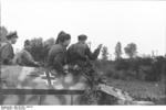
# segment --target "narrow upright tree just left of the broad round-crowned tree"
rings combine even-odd
[[[122,58],[122,46],[121,46],[121,42],[117,42],[116,46],[115,46],[115,58],[116,59],[121,59]]]

